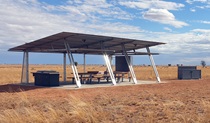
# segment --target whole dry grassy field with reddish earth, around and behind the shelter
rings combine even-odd
[[[30,66],[30,72],[41,69],[62,73],[61,65]],[[210,123],[210,68],[199,69],[201,80],[176,80],[176,67],[159,66],[168,83],[63,90],[13,85],[20,82],[21,66],[1,65],[0,123]],[[134,70],[138,79],[155,80],[151,67]]]

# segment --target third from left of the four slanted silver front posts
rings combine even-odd
[[[128,68],[129,68],[130,73],[131,73],[131,77],[132,77],[133,83],[137,84],[137,79],[136,79],[136,75],[135,75],[134,70],[133,70],[133,66],[131,64],[130,59],[128,58],[127,51],[125,50],[125,44],[122,44],[121,46],[122,46],[123,54],[125,55],[126,62],[128,64]]]

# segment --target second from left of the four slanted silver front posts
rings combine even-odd
[[[115,80],[114,73],[113,73],[113,70],[112,70],[111,62],[110,62],[109,56],[107,55],[107,53],[105,51],[103,42],[101,42],[101,49],[104,50],[103,51],[104,60],[105,60],[107,69],[109,71],[109,76],[110,76],[110,78],[112,80],[112,84],[116,85],[116,80]]]

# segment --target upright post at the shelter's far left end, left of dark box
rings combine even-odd
[[[29,65],[28,65],[28,52],[23,53],[22,75],[21,83],[29,83]]]

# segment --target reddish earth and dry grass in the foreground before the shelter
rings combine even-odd
[[[173,83],[170,86],[173,85],[176,86]],[[62,94],[54,95],[52,98],[49,96],[52,90],[40,89],[33,92],[43,94],[36,99],[32,93],[26,91],[0,93],[6,101],[0,102],[0,123],[210,122],[209,95],[200,93],[194,86],[187,90],[186,87],[180,86],[179,93],[177,93],[178,90],[168,89],[168,85],[160,86],[154,85],[151,88],[145,85],[129,89],[119,87],[78,91],[55,89],[54,93]],[[210,87],[209,84],[208,87]],[[153,91],[153,88],[157,90]],[[132,93],[133,91],[135,93]],[[60,97],[65,95],[63,92],[67,95]]]

